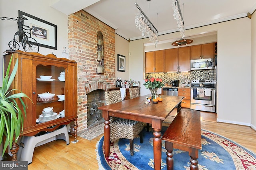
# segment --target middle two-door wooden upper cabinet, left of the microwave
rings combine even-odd
[[[164,50],[164,72],[190,71],[190,47]]]

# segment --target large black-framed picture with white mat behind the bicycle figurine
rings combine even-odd
[[[57,49],[57,25],[36,18],[30,14],[19,10],[19,16],[24,16],[23,25],[32,28],[31,37],[34,38],[38,45],[49,49]]]

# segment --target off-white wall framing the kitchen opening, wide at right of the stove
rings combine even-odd
[[[185,31],[186,36],[217,31],[218,45],[218,121],[250,125],[251,123],[251,26],[249,18],[227,21]],[[159,40],[177,39],[178,33],[159,36]],[[148,39],[140,39],[129,43],[130,70],[141,75],[144,66],[144,43]],[[193,44],[191,44],[193,45]],[[150,50],[148,50],[150,51]],[[152,49],[151,51],[154,51]],[[143,59],[142,59],[143,57]],[[138,59],[139,58],[139,59]],[[143,72],[145,68],[143,68]],[[143,74],[142,74],[143,75]],[[130,76],[131,73],[130,73]],[[243,81],[242,85],[238,83]],[[141,86],[141,93],[148,94],[148,89]]]

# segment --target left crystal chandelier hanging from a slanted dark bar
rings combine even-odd
[[[135,6],[140,10],[135,16],[136,28],[139,27],[140,31],[142,32],[141,35],[143,37],[148,37],[150,41],[155,44],[156,47],[156,44],[158,43],[158,31],[156,27],[154,27],[154,25],[148,19],[146,14],[144,14],[144,12],[137,3],[135,3]]]

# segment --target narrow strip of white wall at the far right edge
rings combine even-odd
[[[256,130],[256,13],[252,15],[251,18],[251,23],[252,23],[252,41],[251,41],[251,104],[252,104],[252,125],[251,127]]]

